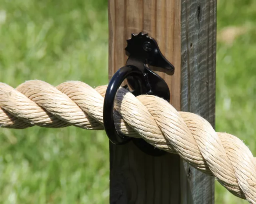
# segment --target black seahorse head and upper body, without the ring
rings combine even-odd
[[[144,73],[147,84],[146,94],[157,95],[169,101],[168,85],[152,70],[164,71],[168,75],[173,75],[174,66],[162,55],[157,42],[152,37],[148,37],[147,33],[140,32],[138,35],[132,33],[131,39],[127,40],[125,50],[128,56],[126,65],[138,67]],[[132,88],[136,87],[132,76],[127,77],[127,81]],[[168,96],[166,96],[167,93]]]

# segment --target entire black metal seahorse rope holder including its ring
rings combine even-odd
[[[152,156],[160,156],[165,152],[154,148],[143,139],[130,138],[118,134],[114,125],[114,100],[116,93],[124,81],[127,79],[131,92],[135,96],[141,94],[155,95],[164,98],[169,102],[170,91],[166,82],[156,73],[151,71],[167,71],[173,75],[174,66],[162,55],[156,41],[147,34],[132,34],[132,38],[127,40],[125,48],[128,60],[126,66],[120,68],[111,78],[104,99],[103,120],[105,131],[114,144],[121,145],[133,140],[134,144]],[[128,86],[126,86],[128,88]]]

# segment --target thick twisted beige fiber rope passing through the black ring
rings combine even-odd
[[[56,88],[31,80],[16,89],[0,83],[0,126],[104,129],[107,86],[92,88],[69,81]],[[162,98],[135,97],[120,88],[115,101],[116,129],[170,153],[178,153],[196,169],[215,176],[234,195],[256,203],[256,160],[234,135],[216,133],[204,118],[177,112]]]

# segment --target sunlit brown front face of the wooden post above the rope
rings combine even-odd
[[[167,82],[171,104],[180,110],[180,0],[109,0],[109,77],[125,65],[124,48],[131,33],[154,37],[177,67],[173,76],[156,71]]]

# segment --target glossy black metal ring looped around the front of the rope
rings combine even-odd
[[[134,87],[134,91],[139,94],[145,92],[144,90],[144,78],[143,73],[135,66],[124,66],[113,75],[111,78],[108,88],[106,90],[105,98],[104,98],[104,106],[103,106],[103,122],[104,128],[108,135],[110,141],[116,145],[122,145],[131,140],[130,137],[126,137],[124,135],[118,134],[115,128],[114,123],[114,101],[116,98],[116,93],[118,92],[119,87],[122,82],[128,77],[135,77],[136,87]]]

